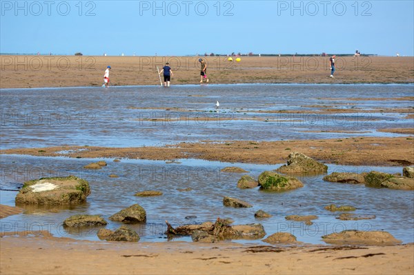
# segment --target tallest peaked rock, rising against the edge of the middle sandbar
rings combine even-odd
[[[291,152],[288,156],[288,164],[277,169],[277,172],[284,174],[326,173],[326,171],[328,166],[298,152]]]

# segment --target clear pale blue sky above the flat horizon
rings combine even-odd
[[[0,52],[414,55],[414,1],[4,1]]]

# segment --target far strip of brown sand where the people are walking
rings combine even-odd
[[[101,86],[110,65],[111,85],[159,85],[157,66],[168,61],[172,85],[198,84],[200,57],[0,56],[0,88]],[[413,83],[414,57],[202,57],[209,83]]]

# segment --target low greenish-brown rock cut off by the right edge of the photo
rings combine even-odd
[[[371,171],[364,177],[366,187],[414,190],[414,179]]]

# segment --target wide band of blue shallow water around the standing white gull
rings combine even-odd
[[[397,136],[376,130],[413,127],[412,119],[403,119],[406,114],[380,112],[412,109],[413,101],[369,99],[413,96],[414,85],[177,85],[0,92],[1,149]],[[352,97],[367,100],[346,101]],[[315,105],[357,111],[321,114],[320,108],[309,107]],[[373,108],[378,111],[366,112]],[[277,110],[296,112],[262,113]],[[332,130],[354,133],[326,132]]]

